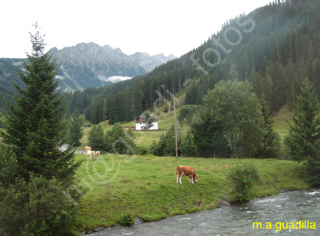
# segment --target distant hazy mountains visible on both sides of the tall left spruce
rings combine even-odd
[[[147,53],[126,55],[119,48],[113,49],[108,45],[100,47],[93,42],[79,43],[61,50],[52,48],[48,53],[60,64],[59,74],[55,78],[60,80],[58,89],[69,92],[99,88],[143,75],[176,58],[171,54],[165,57],[162,53],[154,56]],[[24,88],[18,74],[18,71],[25,71],[22,64],[24,60],[0,58],[0,112],[7,112],[3,97],[10,104],[14,102],[15,88],[11,81]]]

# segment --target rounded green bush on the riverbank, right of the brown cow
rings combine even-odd
[[[259,180],[256,166],[251,163],[237,164],[227,174],[232,184],[231,202],[243,203],[248,201],[248,194],[254,184]]]

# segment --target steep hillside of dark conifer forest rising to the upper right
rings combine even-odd
[[[227,20],[198,48],[146,75],[69,94],[69,109],[93,123],[128,121],[185,88],[184,104],[202,104],[221,80],[248,80],[272,110],[292,107],[307,76],[320,94],[319,42],[320,1],[273,1]]]

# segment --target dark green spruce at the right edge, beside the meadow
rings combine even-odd
[[[312,184],[320,185],[320,103],[308,78],[293,110],[290,133],[285,140],[293,160],[306,164]]]

